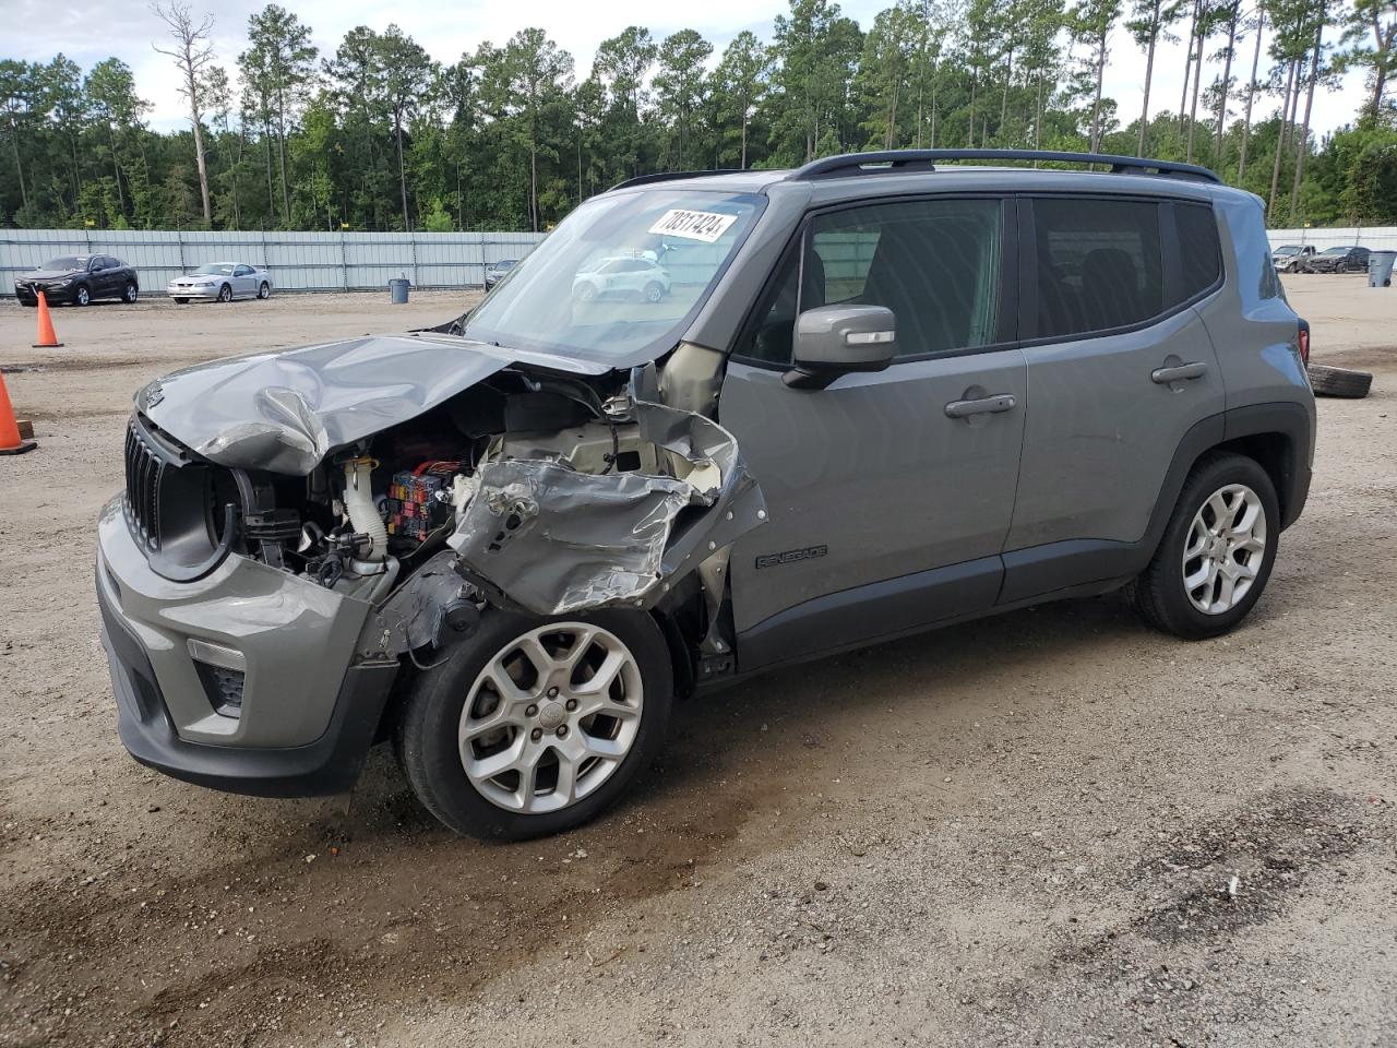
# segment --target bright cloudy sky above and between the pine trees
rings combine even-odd
[[[842,8],[868,28],[877,11],[888,3],[890,0],[848,0]],[[464,52],[475,50],[482,41],[503,43],[525,24],[539,25],[571,52],[578,80],[585,77],[597,45],[626,25],[644,25],[657,41],[676,29],[697,29],[714,45],[717,53],[743,29],[770,39],[773,20],[788,10],[782,0],[705,0],[698,7],[655,4],[652,0],[608,0],[597,6],[577,0],[532,0],[527,7],[517,8],[485,0],[460,4],[409,3],[397,8],[379,0],[284,0],[284,6],[312,27],[313,42],[321,54],[332,53],[345,31],[355,25],[383,31],[388,22],[395,21],[434,59],[455,61]],[[193,0],[193,7],[196,13],[214,13],[214,48],[219,61],[235,75],[237,53],[246,48],[247,15],[260,10],[263,0],[222,0],[217,4]],[[133,68],[137,91],[154,105],[149,123],[159,130],[179,127],[187,116],[176,94],[177,74],[170,60],[151,48],[151,42],[165,31],[163,24],[141,3],[123,6],[122,14],[112,18],[94,18],[91,10],[89,4],[61,0],[0,0],[0,18],[8,27],[7,39],[0,43],[0,57],[47,61],[61,50],[87,70],[115,54]],[[524,18],[527,22],[521,21]],[[1239,48],[1236,60],[1242,66],[1236,75],[1243,81],[1250,71],[1250,57],[1248,42]],[[1263,71],[1266,66],[1263,50]],[[1182,67],[1182,43],[1160,49],[1150,92],[1151,112],[1179,105]],[[1206,74],[1217,75],[1211,67]],[[1125,28],[1118,28],[1111,41],[1105,94],[1116,99],[1122,124],[1137,116],[1143,91],[1144,54]],[[1362,101],[1362,75],[1350,74],[1340,87],[1316,92],[1310,126],[1316,134],[1326,134],[1351,122]],[[1259,96],[1256,116],[1264,119],[1275,108],[1275,99]]]

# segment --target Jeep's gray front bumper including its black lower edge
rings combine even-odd
[[[99,520],[96,595],[117,729],[138,762],[263,796],[353,785],[398,671],[355,662],[367,604],[239,555],[170,583],[131,541],[119,499]],[[219,713],[198,643],[242,654],[236,717]]]

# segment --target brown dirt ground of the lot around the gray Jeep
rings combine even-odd
[[[1315,485],[1185,644],[1066,602],[687,704],[601,822],[457,840],[376,755],[258,801],[116,738],[91,563],[131,391],[460,295],[0,303],[0,1045],[1397,1044],[1397,289],[1287,288]]]

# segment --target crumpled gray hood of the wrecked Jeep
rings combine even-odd
[[[187,367],[145,386],[136,407],[210,461],[305,476],[331,450],[416,418],[511,363],[608,370],[455,335],[366,335]]]

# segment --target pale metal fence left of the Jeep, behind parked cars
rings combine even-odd
[[[468,288],[485,267],[521,259],[543,233],[207,233],[138,229],[0,229],[0,295],[17,274],[64,254],[134,265],[142,293],[212,261],[265,265],[278,291],[366,291],[405,277],[415,288]]]

